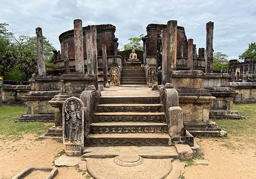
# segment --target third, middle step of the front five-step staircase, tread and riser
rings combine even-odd
[[[94,113],[94,122],[166,122],[164,113]]]

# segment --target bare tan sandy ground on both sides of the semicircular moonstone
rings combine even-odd
[[[0,136],[1,137],[1,136]],[[3,137],[3,136],[2,136]],[[18,141],[0,141],[0,178],[11,178],[27,167],[52,167],[55,155],[63,150],[56,140],[36,140],[34,135],[23,135]],[[188,166],[185,179],[190,178],[256,178],[255,146],[229,149],[216,139],[196,139],[200,144],[208,166]],[[240,144],[238,143],[238,146]],[[87,173],[75,167],[58,167],[56,179],[86,178]]]

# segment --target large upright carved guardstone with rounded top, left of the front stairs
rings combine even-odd
[[[62,109],[63,144],[68,155],[81,155],[84,146],[84,110],[83,102],[70,97],[63,103]]]

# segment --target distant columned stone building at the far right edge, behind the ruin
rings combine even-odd
[[[244,62],[229,60],[228,73],[234,72],[236,81],[256,81],[256,59],[247,56]]]

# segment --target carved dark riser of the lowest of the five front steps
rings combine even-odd
[[[90,146],[129,146],[129,145],[143,145],[143,146],[168,146],[168,138],[93,138],[88,137],[86,143]]]

